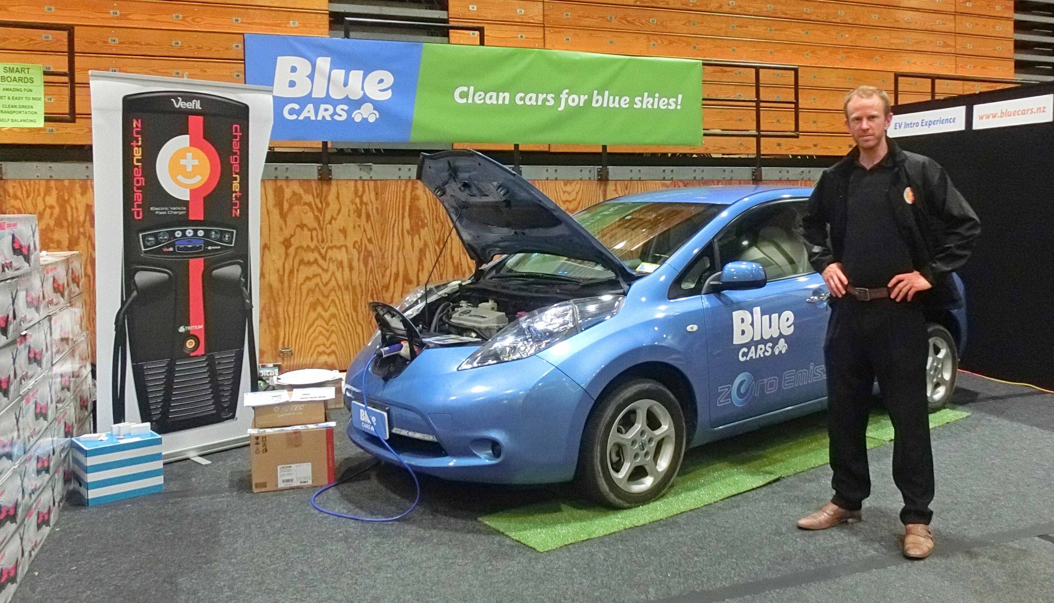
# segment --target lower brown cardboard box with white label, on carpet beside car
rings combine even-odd
[[[254,492],[333,483],[333,427],[319,423],[249,430]]]

